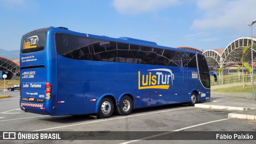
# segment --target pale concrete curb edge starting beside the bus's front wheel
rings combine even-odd
[[[219,106],[213,104],[195,104],[196,108],[210,108],[213,110],[250,110],[254,108],[244,108],[244,107],[235,107],[235,106]]]

